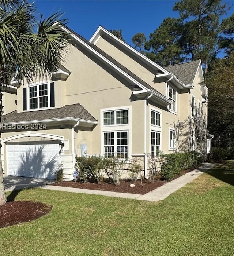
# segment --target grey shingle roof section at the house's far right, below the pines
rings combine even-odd
[[[173,73],[185,85],[188,85],[193,83],[199,63],[200,59],[197,61],[190,61],[181,64],[165,66],[164,68],[167,71]]]

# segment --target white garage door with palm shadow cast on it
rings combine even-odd
[[[59,151],[59,144],[45,142],[7,145],[7,175],[55,179]]]

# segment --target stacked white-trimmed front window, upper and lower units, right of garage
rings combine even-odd
[[[101,152],[107,157],[129,158],[129,129],[131,106],[125,109],[101,109],[102,143]]]

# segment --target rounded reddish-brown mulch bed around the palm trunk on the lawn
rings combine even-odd
[[[1,205],[0,227],[16,225],[22,222],[30,222],[46,215],[52,206],[42,202],[14,201]]]

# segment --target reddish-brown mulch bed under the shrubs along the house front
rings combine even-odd
[[[180,175],[177,175],[176,178],[184,175],[185,173],[188,173],[192,171],[195,168],[185,170]],[[175,179],[176,179],[175,178]],[[155,182],[150,183],[148,179],[143,180],[143,186],[141,186],[140,180],[137,180],[137,182],[132,183],[131,180],[123,179],[120,182],[120,186],[115,186],[112,183],[108,183],[107,179],[106,182],[103,182],[102,184],[97,183],[80,183],[80,182],[74,182],[74,181],[62,181],[60,183],[53,183],[51,185],[54,186],[60,186],[60,187],[74,187],[79,189],[93,189],[93,190],[105,190],[105,191],[113,191],[113,192],[122,192],[122,193],[132,193],[132,194],[146,194],[157,187],[160,187],[167,183],[166,180],[155,180]],[[135,187],[130,187],[130,184],[134,184]]]

